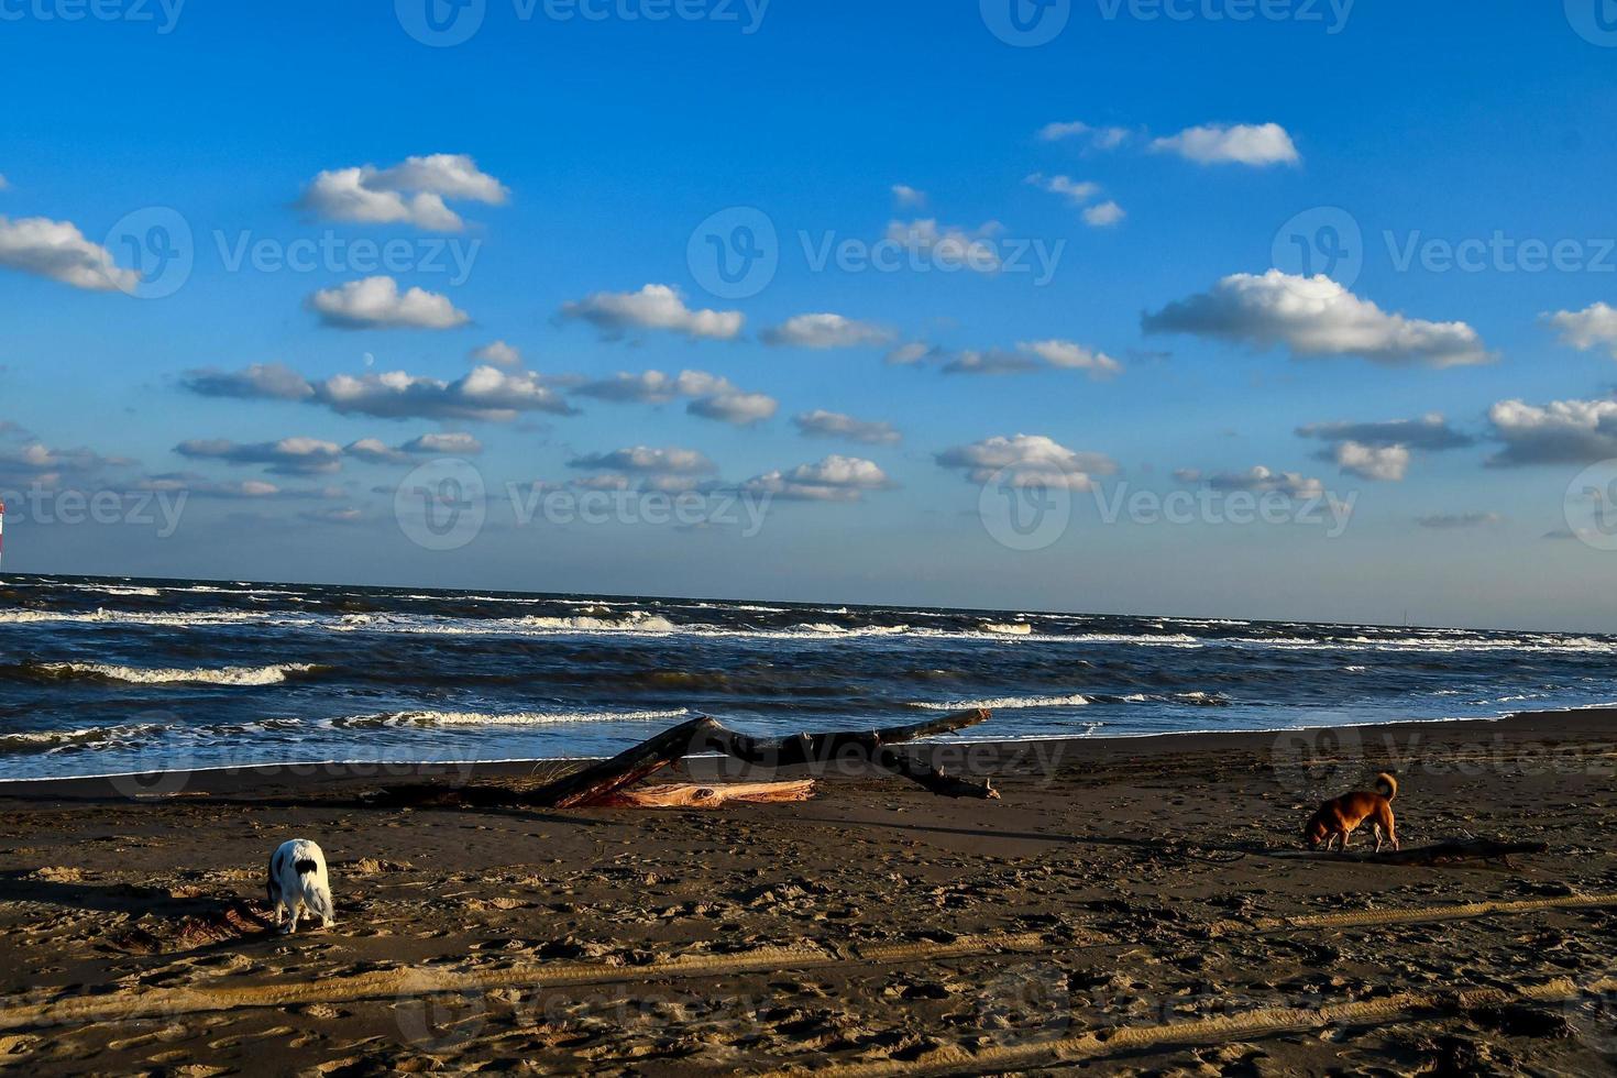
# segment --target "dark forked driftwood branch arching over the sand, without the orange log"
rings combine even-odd
[[[876,731],[833,731],[826,734],[794,734],[758,739],[737,734],[707,716],[681,722],[627,748],[611,760],[602,760],[555,782],[522,794],[521,803],[535,808],[577,808],[600,805],[674,761],[695,753],[723,753],[757,768],[826,766],[833,763],[870,764],[901,776],[943,797],[996,798],[991,782],[973,782],[944,774],[943,769],[901,755],[891,745],[922,737],[951,734],[990,719],[986,710],[956,711],[930,722],[891,726]]]

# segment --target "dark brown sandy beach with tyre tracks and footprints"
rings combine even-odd
[[[344,768],[168,776],[144,794],[0,784],[0,1059],[176,1075],[1598,1073],[1617,1051],[1617,994],[1601,994],[1617,973],[1614,745],[1612,711],[933,745],[1003,798],[823,774],[812,802],[708,811],[399,808],[375,803],[396,771]],[[713,761],[682,769],[658,781],[715,779]],[[1400,781],[1405,849],[1547,850],[1442,866],[1277,855],[1302,850],[1321,797],[1379,769]],[[299,836],[325,847],[340,923],[285,937],[264,863]]]

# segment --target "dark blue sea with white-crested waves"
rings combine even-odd
[[[957,708],[960,737],[1617,701],[1617,637],[302,583],[0,579],[0,779],[600,756]]]

